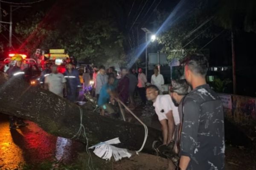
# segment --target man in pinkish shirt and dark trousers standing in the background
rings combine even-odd
[[[138,92],[140,94],[140,98],[142,100],[142,105],[146,104],[146,94],[145,94],[145,87],[146,83],[148,82],[146,75],[142,72],[142,68],[139,68],[139,74],[138,74]]]

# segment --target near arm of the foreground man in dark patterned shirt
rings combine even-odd
[[[183,123],[180,138],[180,164],[186,170],[190,157],[193,156],[197,146],[200,108],[198,103],[191,98],[184,101]]]

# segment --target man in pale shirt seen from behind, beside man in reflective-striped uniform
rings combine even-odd
[[[63,97],[63,90],[64,96],[67,94],[66,79],[63,74],[58,73],[57,65],[52,65],[51,70],[52,73],[45,77],[44,88]]]

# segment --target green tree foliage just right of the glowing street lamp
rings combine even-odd
[[[198,3],[198,6],[193,8],[192,13],[184,15],[177,21],[170,22],[170,25],[167,26],[169,29],[158,36],[158,42],[162,45],[161,53],[167,54],[169,60],[182,58],[182,50],[183,54],[198,52],[198,49],[202,47],[203,39],[211,39],[215,36],[208,29],[209,26],[202,26],[195,34],[192,34],[192,31],[195,31],[209,18],[202,6],[204,4]],[[159,24],[162,24],[168,15],[169,13],[159,13]],[[193,36],[190,36],[190,34]]]

